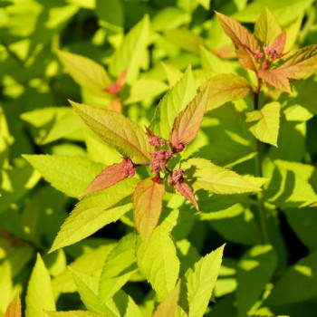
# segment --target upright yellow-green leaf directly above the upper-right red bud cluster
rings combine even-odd
[[[274,14],[265,7],[255,23],[255,37],[264,44],[272,44],[275,37],[282,32]]]

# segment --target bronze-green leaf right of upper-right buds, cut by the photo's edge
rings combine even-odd
[[[278,70],[288,78],[300,79],[317,70],[317,44],[305,46],[290,57],[286,57]]]

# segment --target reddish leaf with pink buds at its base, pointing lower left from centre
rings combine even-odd
[[[111,187],[124,178],[134,176],[135,169],[130,159],[123,159],[121,163],[110,165],[101,170],[91,184],[82,192],[79,197],[93,193],[95,191]]]

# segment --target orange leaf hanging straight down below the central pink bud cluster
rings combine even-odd
[[[162,210],[165,186],[148,178],[141,180],[133,193],[134,224],[144,242],[149,241]]]

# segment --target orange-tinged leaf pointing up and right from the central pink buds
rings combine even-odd
[[[188,144],[196,138],[207,108],[209,85],[200,91],[187,107],[179,112],[174,120],[169,134],[169,142],[177,147],[179,144]]]

